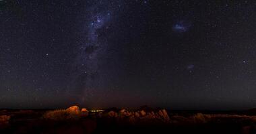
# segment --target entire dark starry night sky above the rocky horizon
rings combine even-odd
[[[256,1],[0,0],[0,109],[256,107]]]

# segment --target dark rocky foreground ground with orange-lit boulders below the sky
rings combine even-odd
[[[0,133],[256,133],[253,111],[1,110]]]

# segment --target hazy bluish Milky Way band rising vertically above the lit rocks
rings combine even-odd
[[[99,90],[104,89],[106,82],[106,70],[102,60],[106,60],[108,44],[108,28],[113,24],[112,19],[117,19],[117,7],[122,5],[121,1],[90,1],[91,6],[86,9],[86,21],[84,25],[85,39],[82,40],[78,48],[77,66],[79,68],[76,83],[82,93],[82,103],[84,100],[97,96]],[[104,34],[102,36],[102,34]],[[86,98],[86,99],[85,99]]]

